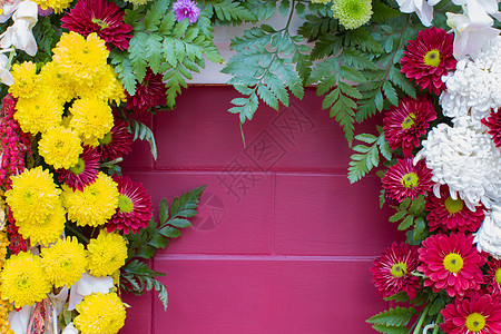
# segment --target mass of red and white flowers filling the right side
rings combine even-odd
[[[397,2],[431,26],[438,1]],[[423,29],[400,59],[421,94],[385,109],[380,137],[358,136],[386,158],[381,206],[406,232],[371,268],[383,297],[405,303],[367,320],[380,333],[501,333],[499,4],[452,2],[453,33]]]

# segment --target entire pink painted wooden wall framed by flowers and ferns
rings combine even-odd
[[[144,115],[158,160],[136,143],[124,167],[154,199],[207,184],[194,227],[153,261],[169,291],[126,296],[121,333],[374,333],[387,305],[370,283],[374,256],[401,239],[379,209],[375,176],[350,185],[338,126],[307,89],[245,124],[226,112],[230,87],[190,87],[175,111]],[[366,125],[365,130],[374,127]]]

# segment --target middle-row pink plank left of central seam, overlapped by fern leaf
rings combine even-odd
[[[154,207],[163,197],[170,203],[191,188],[208,185],[200,198],[199,214],[193,219],[194,227],[183,230],[179,239],[168,246],[168,253],[209,254],[269,254],[272,244],[271,178],[263,175],[246,194],[235,183],[233,194],[219,185],[220,179],[229,183],[230,174],[222,173],[129,173],[140,180],[154,200]],[[250,178],[249,175],[246,175]],[[252,183],[242,177],[250,187]]]

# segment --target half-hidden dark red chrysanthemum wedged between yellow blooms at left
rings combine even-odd
[[[95,147],[84,146],[84,153],[78,157],[78,163],[70,169],[58,169],[59,181],[65,183],[75,190],[84,190],[84,187],[94,183],[99,173],[99,154]]]

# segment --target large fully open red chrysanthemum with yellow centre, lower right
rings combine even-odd
[[[480,289],[483,284],[480,266],[485,257],[473,246],[472,235],[432,235],[418,252],[422,262],[418,269],[426,276],[424,286],[435,293],[445,289],[449,296],[462,298],[468,289]]]

